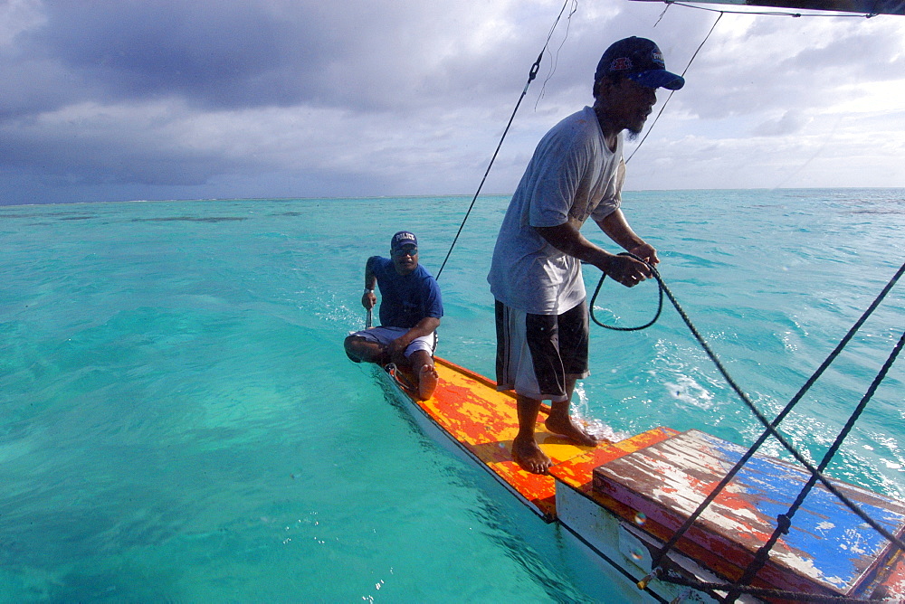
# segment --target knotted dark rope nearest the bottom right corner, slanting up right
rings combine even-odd
[[[836,435],[836,439],[834,440],[833,445],[826,450],[826,453],[824,453],[824,458],[820,461],[820,465],[817,466],[817,469],[819,471],[823,472],[824,469],[829,466],[830,461],[833,460],[836,454],[836,451],[838,451],[842,446],[843,440],[846,439],[846,437],[848,437],[848,435],[852,432],[855,422],[857,422],[861,417],[862,412],[867,407],[867,403],[871,401],[874,392],[877,392],[877,388],[880,386],[880,383],[886,378],[886,373],[889,373],[892,364],[896,362],[896,358],[899,356],[903,345],[905,345],[905,332],[902,332],[902,335],[899,338],[899,343],[893,347],[892,353],[886,360],[886,363],[883,363],[880,373],[877,373],[876,377],[874,377],[873,382],[871,382],[870,388],[868,388],[867,392],[864,393],[861,402],[858,403],[858,406],[853,411],[851,417],[849,417],[849,420],[845,423],[842,431],[840,431],[839,434]],[[733,590],[729,591],[729,594],[725,599],[727,602],[731,602],[736,597],[738,597],[738,593],[735,590],[737,586],[741,587],[748,585],[748,583],[750,583],[751,580],[754,579],[755,575],[757,575],[757,572],[760,571],[760,569],[762,569],[767,563],[769,552],[773,549],[773,546],[779,540],[779,537],[783,534],[788,533],[788,528],[792,525],[792,518],[798,511],[798,508],[801,507],[803,503],[805,503],[805,497],[807,497],[807,495],[811,493],[811,490],[814,488],[816,482],[817,477],[812,475],[808,479],[805,486],[802,487],[801,491],[798,493],[798,496],[795,497],[795,501],[792,503],[792,505],[789,506],[786,514],[780,514],[779,516],[777,516],[776,529],[773,531],[773,534],[770,535],[770,538],[767,539],[767,542],[765,542],[757,551],[757,555],[755,555],[754,560],[752,560],[750,564],[748,564],[748,568],[745,569],[745,573],[738,581],[736,581],[735,585],[733,586]],[[898,545],[898,543],[896,545]]]

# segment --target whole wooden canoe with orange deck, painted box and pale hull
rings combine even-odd
[[[779,459],[755,456],[667,554],[662,566],[671,580],[651,579],[653,557],[743,448],[698,430],[663,427],[580,447],[538,421],[538,443],[554,466],[548,476],[530,474],[511,458],[518,432],[514,396],[454,363],[437,358],[436,366],[440,382],[428,401],[418,401],[393,367],[379,373],[386,392],[429,436],[452,443],[531,511],[559,524],[578,549],[641,583],[639,601],[723,599],[726,590],[700,584],[738,580],[773,533],[776,514],[786,511],[808,478]],[[905,505],[833,482],[890,533],[905,534]],[[682,578],[698,587],[682,585]],[[776,596],[783,592],[794,592],[798,601],[905,601],[905,557],[818,485],[751,586],[764,591],[737,601],[791,601]]]

